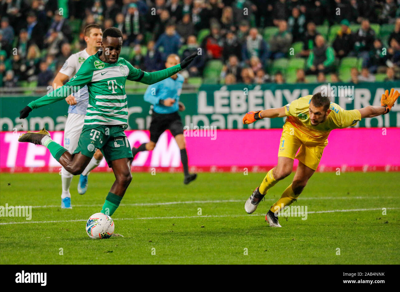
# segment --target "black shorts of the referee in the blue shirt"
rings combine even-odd
[[[178,112],[172,114],[157,114],[153,112],[150,123],[150,141],[157,143],[165,130],[170,130],[172,136],[183,134],[183,124]]]

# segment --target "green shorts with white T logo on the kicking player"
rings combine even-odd
[[[84,125],[78,147],[72,154],[81,152],[84,156],[92,158],[97,149],[100,149],[109,167],[112,167],[113,160],[133,159],[122,125]]]

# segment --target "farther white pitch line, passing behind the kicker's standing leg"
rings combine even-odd
[[[397,199],[399,197],[315,197],[315,198],[300,198],[299,200],[350,200],[350,199]],[[266,198],[266,201],[275,201],[276,198]],[[133,204],[120,204],[120,206],[159,206],[159,205],[174,205],[174,204],[207,204],[207,203],[240,203],[246,200],[214,200],[214,201],[178,201],[178,202],[163,202],[163,203],[133,203]],[[72,205],[73,207],[98,207],[102,205],[89,204],[89,205]],[[32,206],[32,208],[60,208],[60,205],[44,205]]]

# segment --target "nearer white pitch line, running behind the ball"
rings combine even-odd
[[[400,208],[386,208],[386,210],[397,210]],[[311,211],[307,214],[318,214],[318,213],[334,213],[334,212],[358,212],[358,211],[374,211],[382,210],[382,208],[371,208],[371,209],[348,209],[348,210],[325,210],[325,211]],[[244,217],[244,216],[264,216],[263,214],[240,214],[240,215],[203,215],[203,216],[168,216],[168,217],[138,217],[138,218],[114,218],[114,220],[151,220],[151,219],[184,219],[184,218],[219,218],[219,217]],[[58,221],[23,221],[23,222],[6,222],[0,223],[0,225],[9,224],[28,224],[28,223],[62,223],[62,222],[83,222],[85,219],[76,220],[58,220]]]

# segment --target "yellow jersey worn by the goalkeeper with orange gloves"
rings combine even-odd
[[[288,116],[286,123],[292,124],[296,129],[304,134],[317,139],[326,140],[330,131],[354,126],[361,120],[359,110],[344,110],[334,102],[330,103],[330,113],[325,122],[313,126],[310,121],[308,108],[312,95],[300,97],[285,106],[285,113]]]

